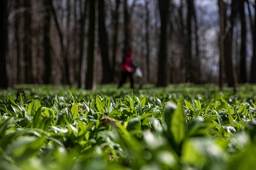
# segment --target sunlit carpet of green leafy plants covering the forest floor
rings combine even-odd
[[[0,91],[0,169],[252,169],[256,85]]]

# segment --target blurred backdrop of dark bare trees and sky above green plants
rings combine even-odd
[[[256,83],[254,0],[1,0],[0,87],[117,83],[133,48],[143,83]]]

